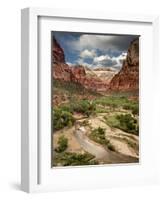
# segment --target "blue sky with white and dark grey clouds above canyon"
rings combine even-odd
[[[70,65],[120,69],[135,35],[97,35],[53,32]]]

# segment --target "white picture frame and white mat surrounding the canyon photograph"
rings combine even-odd
[[[156,111],[151,109],[154,118],[149,119],[148,109],[151,104],[154,105],[157,102],[158,91],[155,89],[157,85],[157,72],[158,72],[158,16],[142,16],[142,15],[128,15],[128,14],[117,14],[117,13],[105,13],[105,12],[88,12],[79,10],[55,10],[50,8],[25,8],[22,9],[22,81],[21,81],[21,92],[22,92],[22,126],[21,126],[21,188],[26,192],[37,192],[37,191],[60,191],[60,190],[71,190],[71,189],[96,189],[96,188],[107,188],[113,186],[125,186],[125,185],[143,185],[143,184],[155,184],[158,183],[158,161],[159,158],[155,155],[158,151],[159,139],[156,136],[159,134],[157,128],[157,116]],[[43,19],[43,21],[41,21]],[[56,20],[55,20],[56,19]],[[53,21],[55,20],[55,21]],[[57,20],[60,20],[59,22]],[[66,25],[65,22],[70,23]],[[62,23],[61,23],[62,22]],[[109,22],[119,23],[115,27],[116,32],[123,32],[123,24],[128,27],[129,33],[142,33],[146,42],[142,47],[142,50],[148,51],[144,53],[144,60],[141,63],[141,160],[138,165],[112,165],[112,166],[97,166],[97,167],[75,167],[75,168],[61,168],[54,170],[49,164],[50,139],[45,138],[45,134],[41,134],[41,129],[47,129],[49,131],[50,124],[48,120],[49,109],[46,112],[46,100],[40,100],[43,98],[40,93],[45,94],[45,90],[50,86],[47,78],[51,71],[45,71],[44,76],[40,73],[40,67],[42,66],[42,60],[40,60],[40,54],[46,54],[45,51],[41,50],[42,44],[45,45],[44,35],[47,36],[49,30],[68,30],[74,31],[78,24],[77,31],[83,31],[82,23],[88,23],[86,25],[87,32],[100,32],[97,30],[97,25],[106,24]],[[58,25],[57,25],[58,24]],[[93,25],[94,24],[94,25]],[[136,25],[139,29],[135,32],[136,28],[132,28],[132,25]],[[140,26],[140,27],[139,27]],[[107,33],[104,26],[100,26],[102,32]],[[145,30],[146,29],[146,30]],[[44,30],[45,34],[44,34]],[[40,36],[39,32],[43,32]],[[115,32],[113,31],[113,32]],[[126,30],[124,30],[126,31]],[[47,40],[48,42],[49,40]],[[146,45],[145,45],[146,44]],[[148,49],[148,47],[151,47]],[[50,45],[50,44],[49,44]],[[49,47],[47,46],[47,49]],[[44,55],[46,62],[49,61],[49,54]],[[149,60],[147,60],[150,55]],[[48,64],[47,63],[47,64]],[[44,63],[46,64],[46,63]],[[148,64],[149,69],[145,68],[144,65]],[[49,65],[49,64],[48,64]],[[154,69],[153,69],[154,68]],[[50,70],[50,68],[48,68]],[[144,75],[148,71],[148,76]],[[49,75],[50,77],[51,75]],[[48,81],[47,81],[48,80]],[[150,81],[155,80],[154,84],[151,85]],[[41,87],[40,85],[43,85]],[[149,89],[153,87],[154,92],[151,100],[147,102],[149,97]],[[43,89],[44,88],[44,89]],[[41,92],[40,92],[41,90]],[[49,90],[50,91],[50,90]],[[47,97],[50,93],[47,93]],[[40,103],[41,102],[41,103]],[[40,111],[40,106],[44,107]],[[44,112],[45,111],[45,112]],[[43,113],[44,112],[44,113]],[[40,126],[40,116],[45,115],[44,118],[47,123],[45,126]],[[148,122],[152,128],[148,128]],[[48,124],[48,125],[47,125]],[[157,130],[155,133],[153,130]],[[148,131],[151,137],[147,141],[145,132]],[[153,148],[150,145],[154,141]],[[150,151],[150,152],[149,152]],[[148,155],[148,152],[152,156]],[[89,169],[88,169],[89,168]],[[111,173],[111,174],[109,174]],[[116,174],[116,175],[115,175]],[[52,180],[50,180],[52,179]],[[69,179],[69,180],[68,180]],[[54,181],[53,181],[54,180]],[[110,180],[110,181],[108,181]],[[63,184],[64,183],[64,184]]]

